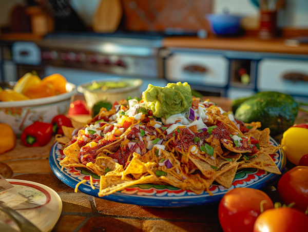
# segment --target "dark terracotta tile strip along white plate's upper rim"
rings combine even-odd
[[[13,177],[13,179],[34,181],[44,184],[56,192],[74,192],[74,189],[64,184],[53,173],[50,174],[25,174]]]

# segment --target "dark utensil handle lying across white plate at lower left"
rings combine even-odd
[[[4,211],[9,216],[18,225],[18,227],[20,227],[22,232],[42,232],[24,216],[8,207],[3,201],[0,201],[0,210]]]

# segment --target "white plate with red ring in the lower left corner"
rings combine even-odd
[[[7,179],[18,194],[29,198],[14,209],[36,225],[42,232],[49,232],[59,220],[62,212],[62,201],[57,193],[43,185],[32,181]],[[7,224],[12,221],[6,221]]]

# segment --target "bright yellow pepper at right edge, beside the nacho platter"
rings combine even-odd
[[[288,160],[298,165],[304,154],[308,153],[308,124],[302,123],[288,128],[283,133],[281,144]]]

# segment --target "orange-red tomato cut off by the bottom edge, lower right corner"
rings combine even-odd
[[[257,218],[254,232],[307,231],[308,217],[294,208],[268,209]]]

